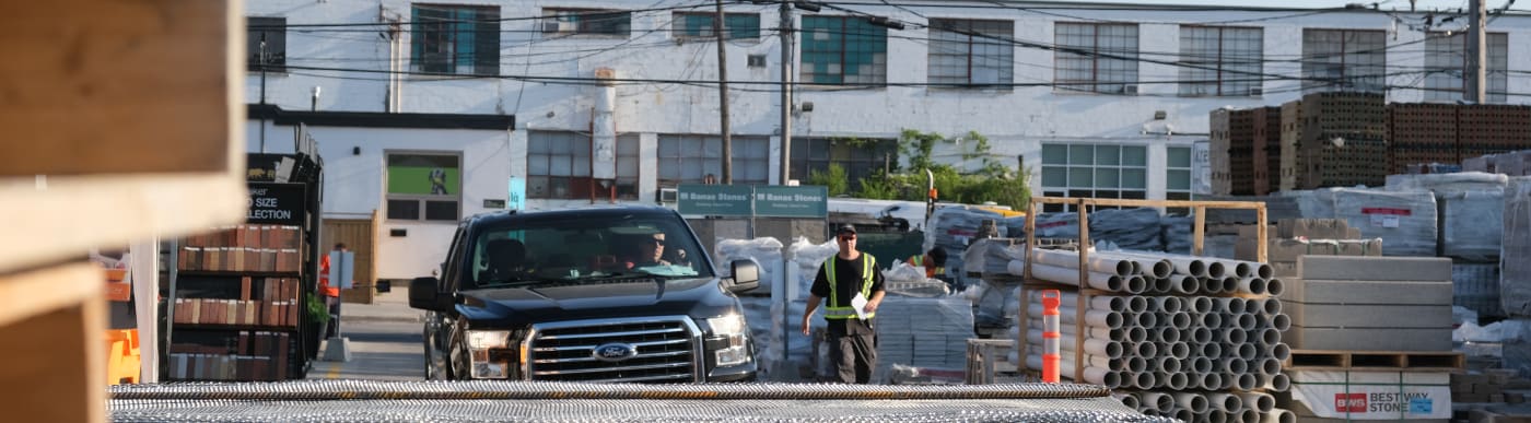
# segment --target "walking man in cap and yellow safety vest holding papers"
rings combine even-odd
[[[844,383],[868,383],[877,366],[877,331],[873,328],[877,305],[882,303],[882,271],[877,259],[856,250],[856,227],[842,225],[834,231],[841,253],[819,267],[810,288],[808,308],[802,313],[802,334],[810,334],[813,311],[824,307],[828,323],[830,362]],[[857,310],[859,308],[859,310]]]

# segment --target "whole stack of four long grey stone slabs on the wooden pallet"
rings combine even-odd
[[[1292,349],[1451,351],[1451,261],[1303,256],[1281,294]]]

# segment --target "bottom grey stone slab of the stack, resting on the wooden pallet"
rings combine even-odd
[[[1369,328],[1304,328],[1281,333],[1292,349],[1344,351],[1451,351],[1451,328],[1433,330],[1369,330]]]

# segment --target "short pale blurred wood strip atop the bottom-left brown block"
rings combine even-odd
[[[78,305],[106,293],[106,271],[69,264],[0,276],[0,326]]]

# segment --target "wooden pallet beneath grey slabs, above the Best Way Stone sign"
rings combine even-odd
[[[1327,351],[1292,349],[1285,369],[1410,369],[1459,371],[1467,368],[1462,352],[1421,351]]]

